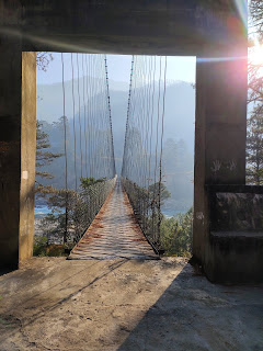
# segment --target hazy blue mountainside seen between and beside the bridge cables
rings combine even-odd
[[[81,81],[80,81],[81,84]],[[127,114],[127,84],[110,81],[111,105],[113,118],[113,137],[117,172],[121,172],[125,125]],[[75,89],[77,91],[77,81]],[[66,116],[69,124],[69,168],[73,165],[72,151],[72,82],[65,84],[66,92]],[[62,151],[62,129],[57,122],[62,116],[62,89],[61,84],[37,87],[37,118],[45,121],[44,129],[50,136],[52,149],[56,152]],[[156,97],[157,98],[157,97]],[[89,103],[89,102],[88,102]],[[98,106],[98,111],[100,106]],[[80,109],[83,116],[83,105]],[[76,107],[78,117],[79,109]],[[165,120],[164,120],[164,148],[163,148],[163,173],[165,184],[172,196],[167,203],[168,212],[184,211],[193,202],[193,156],[194,156],[194,118],[195,117],[195,90],[186,82],[172,82],[167,88]],[[78,131],[78,125],[77,125]],[[155,140],[153,140],[155,144]],[[78,146],[77,146],[78,147]],[[79,149],[77,150],[80,151]],[[64,158],[57,159],[48,167],[55,178],[49,181],[55,186],[62,188],[64,184]],[[78,165],[79,168],[79,165]],[[72,174],[73,172],[69,172]],[[72,176],[71,176],[72,178]],[[73,179],[69,180],[73,184]],[[171,208],[171,211],[170,211]]]

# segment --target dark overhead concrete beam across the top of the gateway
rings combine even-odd
[[[2,30],[14,36],[21,30],[26,52],[196,56],[204,45],[213,50],[230,41],[235,46],[243,38],[236,0],[9,0],[5,3],[22,3],[21,27],[13,21]]]

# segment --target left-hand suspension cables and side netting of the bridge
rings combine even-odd
[[[58,195],[65,200],[67,242],[81,238],[112,191],[115,159],[106,57],[70,54],[67,63],[65,55],[61,54],[65,189]],[[71,82],[65,81],[66,70],[71,72]]]

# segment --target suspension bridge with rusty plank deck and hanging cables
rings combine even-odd
[[[61,54],[65,189],[59,193],[62,240],[76,242],[69,259],[157,259],[162,252],[167,58],[133,56],[117,177],[106,56],[70,55],[66,64]],[[66,70],[72,76],[70,94]]]

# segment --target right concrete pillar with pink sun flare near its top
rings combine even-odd
[[[204,265],[211,254],[205,185],[245,183],[245,44],[197,57],[193,253]]]

